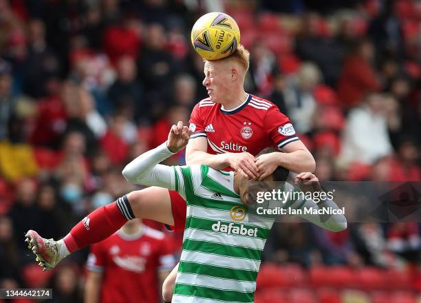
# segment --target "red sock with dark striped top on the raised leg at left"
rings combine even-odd
[[[123,213],[127,209],[121,210],[122,204],[129,207],[129,211],[133,214],[126,196],[92,211],[63,239],[67,250],[73,253],[89,244],[100,242],[118,231],[128,219]],[[129,218],[132,219],[131,216]]]

